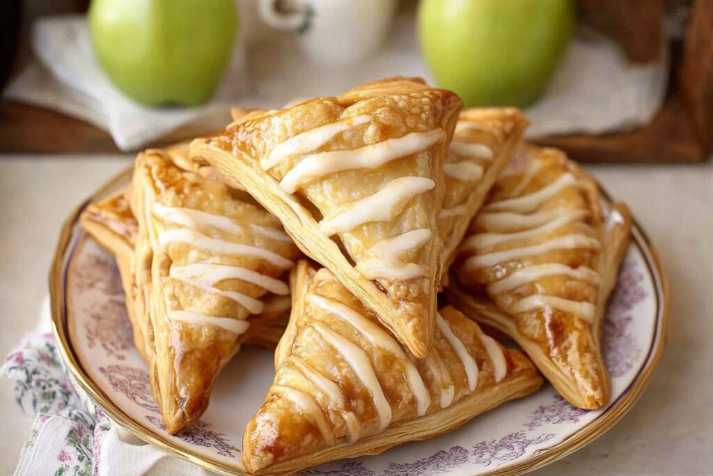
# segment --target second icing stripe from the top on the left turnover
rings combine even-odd
[[[232,243],[218,238],[210,238],[210,236],[203,235],[190,228],[173,228],[163,231],[158,236],[158,243],[161,246],[170,245],[171,243],[186,243],[212,253],[262,258],[282,269],[292,268],[294,265],[294,261],[288,260],[277,253],[272,253],[270,250]]]

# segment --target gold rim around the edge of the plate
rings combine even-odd
[[[176,445],[174,445],[173,442],[170,442],[170,440],[154,432],[150,432],[145,427],[135,422],[135,420],[126,415],[125,412],[123,412],[123,410],[121,410],[111,400],[111,398],[106,395],[106,393],[104,393],[101,387],[99,387],[99,385],[92,380],[86,370],[84,370],[81,363],[79,363],[78,357],[72,348],[68,328],[66,328],[66,325],[63,323],[65,314],[64,310],[66,308],[66,302],[64,300],[65,293],[63,293],[63,271],[66,262],[66,252],[68,250],[68,245],[71,243],[73,229],[77,224],[81,211],[83,211],[89,203],[96,201],[98,198],[106,195],[108,191],[116,188],[118,184],[123,181],[127,181],[132,170],[133,166],[129,166],[104,183],[104,185],[93,193],[86,201],[80,203],[76,208],[74,208],[62,225],[49,272],[52,330],[55,340],[58,343],[57,348],[73,380],[78,383],[82,390],[89,395],[91,400],[93,400],[96,405],[101,407],[101,409],[106,413],[106,415],[108,415],[108,417],[111,418],[111,420],[125,427],[141,440],[154,445],[155,447],[160,448],[160,450],[168,452],[171,455],[180,457],[183,460],[193,462],[196,465],[205,467],[208,470],[221,472],[223,474],[248,476],[247,472],[238,470],[236,467],[219,462],[210,457],[198,455],[194,452],[176,447]],[[607,191],[605,191],[605,189],[602,188],[598,182],[597,186],[599,186],[599,191],[605,201],[611,202],[612,198],[610,194],[607,193]],[[619,421],[637,402],[643,390],[646,388],[646,385],[651,380],[652,374],[654,373],[654,370],[661,358],[666,342],[670,305],[669,283],[659,253],[650,242],[646,233],[642,230],[636,218],[632,218],[632,220],[634,224],[632,228],[632,244],[637,245],[645,257],[647,268],[649,268],[652,275],[657,298],[656,312],[658,328],[655,330],[652,347],[649,350],[650,355],[648,355],[645,360],[644,367],[640,370],[637,377],[635,377],[635,380],[632,381],[627,390],[624,391],[620,399],[611,402],[610,407],[604,410],[602,415],[595,418],[593,422],[590,422],[582,430],[575,432],[573,435],[565,438],[565,440],[559,442],[557,445],[537,450],[535,455],[529,457],[525,461],[516,462],[490,472],[482,473],[483,475],[517,475],[543,467],[548,465],[550,462],[554,462],[555,460],[559,460],[566,455],[570,455],[572,452],[580,449],[580,447],[587,445],[589,442],[595,440],[595,438],[603,435],[617,421]]]

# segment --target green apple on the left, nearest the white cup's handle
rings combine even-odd
[[[93,0],[88,15],[99,64],[147,106],[208,101],[237,30],[233,0]]]

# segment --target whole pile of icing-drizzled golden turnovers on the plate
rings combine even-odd
[[[448,432],[538,390],[535,365],[573,405],[605,405],[630,218],[563,153],[523,146],[519,111],[461,112],[394,78],[232,113],[190,148],[140,153],[129,190],[81,217],[116,256],[169,432],[248,343],[277,346],[243,435],[256,474]]]

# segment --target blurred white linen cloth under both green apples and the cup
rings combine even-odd
[[[41,66],[16,77],[5,96],[82,118],[109,131],[128,151],[188,122],[222,128],[230,121],[228,106],[275,108],[295,97],[338,94],[388,76],[422,76],[434,83],[417,43],[408,9],[396,16],[378,54],[333,69],[309,64],[293,36],[278,34],[251,44],[247,60],[242,46],[236,49],[222,87],[207,106],[151,109],[126,98],[98,68],[83,17],[42,19],[32,41]],[[663,56],[655,64],[630,64],[614,42],[580,29],[545,96],[525,111],[532,123],[526,135],[597,134],[649,123],[665,96],[668,59]]]

